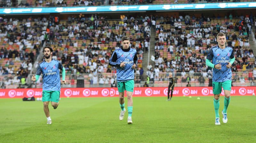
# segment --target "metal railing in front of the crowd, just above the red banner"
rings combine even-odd
[[[155,73],[154,73],[155,75]],[[29,75],[29,79],[32,75]],[[154,82],[150,81],[148,84],[150,87],[167,87],[168,86],[169,73],[159,73],[159,76],[154,78]],[[188,82],[193,87],[198,86],[212,86],[212,73],[186,73],[182,76],[182,73],[173,74],[176,87],[185,87]],[[66,85],[61,87],[111,87],[111,79],[116,83],[115,73],[103,73],[103,74],[67,74]],[[104,81],[100,84],[100,80]],[[31,80],[26,81],[26,84],[17,82],[17,76],[15,75],[0,75],[0,88],[42,88],[42,76],[36,83]],[[134,86],[143,87],[146,81],[140,81],[140,75],[135,74]],[[232,86],[256,86],[256,76],[253,72],[232,72]]]

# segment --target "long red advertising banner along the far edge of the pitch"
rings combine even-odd
[[[234,86],[231,96],[251,96],[255,86]],[[167,96],[167,87],[135,87],[133,97]],[[61,88],[60,97],[118,97],[117,88]],[[174,87],[173,96],[212,96],[212,87]],[[221,95],[224,95],[222,89]],[[42,97],[42,89],[0,89],[0,98]]]

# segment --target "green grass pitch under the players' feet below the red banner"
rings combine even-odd
[[[214,124],[213,97],[200,98],[135,97],[132,125],[127,112],[119,121],[118,98],[63,98],[50,108],[51,125],[42,102],[0,99],[0,142],[256,142],[255,96],[231,97],[221,125]]]

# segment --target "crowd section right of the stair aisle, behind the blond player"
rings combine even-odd
[[[252,14],[233,19],[216,17],[195,18],[186,15],[162,18],[156,22],[155,61],[148,65],[147,76],[150,81],[164,81],[159,73],[181,73],[179,82],[194,79],[194,73],[201,73],[204,78],[211,77],[211,68],[205,65],[210,48],[217,44],[216,35],[226,33],[227,46],[234,49],[234,72],[252,72],[256,78],[256,63],[253,51],[249,46],[249,36],[253,24]],[[186,74],[189,73],[189,74]],[[204,83],[203,78],[196,80]],[[236,79],[236,78],[234,78]]]

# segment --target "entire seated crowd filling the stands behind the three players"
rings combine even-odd
[[[108,66],[112,52],[120,47],[121,37],[129,36],[130,47],[137,49],[138,69],[135,83],[140,81],[167,81],[165,72],[181,73],[180,81],[204,79],[211,75],[211,69],[205,65],[209,49],[216,44],[218,32],[227,33],[227,45],[235,50],[236,61],[232,71],[252,71],[255,73],[255,57],[249,48],[248,37],[252,28],[252,16],[226,19],[219,16],[196,18],[186,15],[172,17],[127,17],[121,20],[107,20],[107,17],[83,14],[68,17],[60,21],[57,16],[49,18],[3,19],[1,27],[0,49],[0,86],[27,85],[26,78],[33,68],[35,57],[43,43],[52,46],[53,59],[61,61],[67,74],[74,74],[67,82],[76,85],[76,77],[85,75],[85,84],[112,84],[116,69]],[[143,79],[143,53],[150,47],[150,31],[156,31],[155,63],[148,65],[148,78]],[[36,68],[38,63],[35,63]],[[186,74],[189,73],[189,74]],[[195,79],[194,73],[204,78]],[[106,74],[107,73],[107,74]],[[102,74],[98,76],[99,74]],[[15,76],[13,76],[15,75]],[[187,76],[189,75],[189,76]],[[240,79],[239,79],[240,80]],[[19,82],[20,81],[20,82]],[[38,84],[42,84],[38,80]],[[9,87],[10,87],[9,86]],[[15,87],[15,86],[14,86]]]

